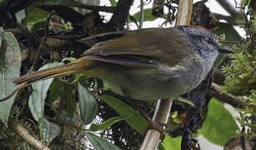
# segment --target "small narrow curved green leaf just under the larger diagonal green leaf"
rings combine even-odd
[[[110,128],[114,123],[120,122],[125,118],[126,117],[111,117],[100,125],[93,123],[90,127],[90,131],[106,130]]]

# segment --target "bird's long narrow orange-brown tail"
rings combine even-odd
[[[28,73],[22,77],[16,78],[13,82],[17,84],[26,82],[26,84],[29,84],[39,80],[72,74],[74,72],[83,72],[86,71],[90,65],[90,60],[84,61],[83,58],[79,58],[74,62],[69,62],[68,64],[60,67],[53,67],[38,72]]]

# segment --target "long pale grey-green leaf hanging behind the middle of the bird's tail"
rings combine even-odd
[[[57,67],[63,65],[63,62],[53,62],[48,63],[41,67],[39,70],[44,70],[51,67]],[[47,80],[33,82],[33,92],[31,93],[28,106],[30,112],[33,114],[35,120],[39,120],[40,118],[44,117],[44,101],[47,97],[48,88],[50,87],[51,83],[53,82],[53,78],[49,78]]]

